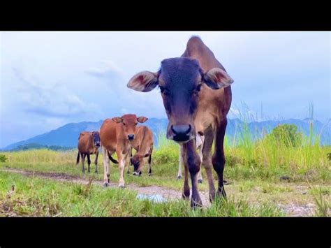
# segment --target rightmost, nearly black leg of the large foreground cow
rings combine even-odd
[[[215,150],[212,156],[212,165],[217,173],[217,177],[219,180],[217,194],[224,198],[226,198],[226,191],[224,190],[223,184],[223,170],[226,163],[226,159],[224,156],[223,141],[226,133],[226,124],[227,119],[223,119],[216,127]]]

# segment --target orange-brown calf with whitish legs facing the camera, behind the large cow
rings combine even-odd
[[[101,150],[103,153],[103,185],[109,184],[109,157],[116,152],[119,161],[119,187],[124,187],[124,168],[131,150],[131,143],[135,139],[138,122],[146,122],[146,117],[123,115],[105,119],[100,129]]]

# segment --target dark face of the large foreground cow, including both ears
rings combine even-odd
[[[158,73],[143,71],[134,75],[127,86],[149,92],[159,85],[169,120],[167,138],[185,143],[196,137],[194,118],[202,85],[221,89],[231,83],[233,79],[221,68],[212,68],[204,73],[198,60],[181,57],[163,60]]]

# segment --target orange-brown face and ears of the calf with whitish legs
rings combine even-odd
[[[147,121],[147,117],[138,117],[136,115],[123,115],[122,117],[112,118],[113,122],[123,125],[124,137],[132,141],[135,138],[135,130],[138,122],[144,123]]]

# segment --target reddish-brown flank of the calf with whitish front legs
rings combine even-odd
[[[112,119],[105,119],[100,128],[101,145],[108,151],[115,152],[117,145],[117,129],[119,124],[116,124]]]

